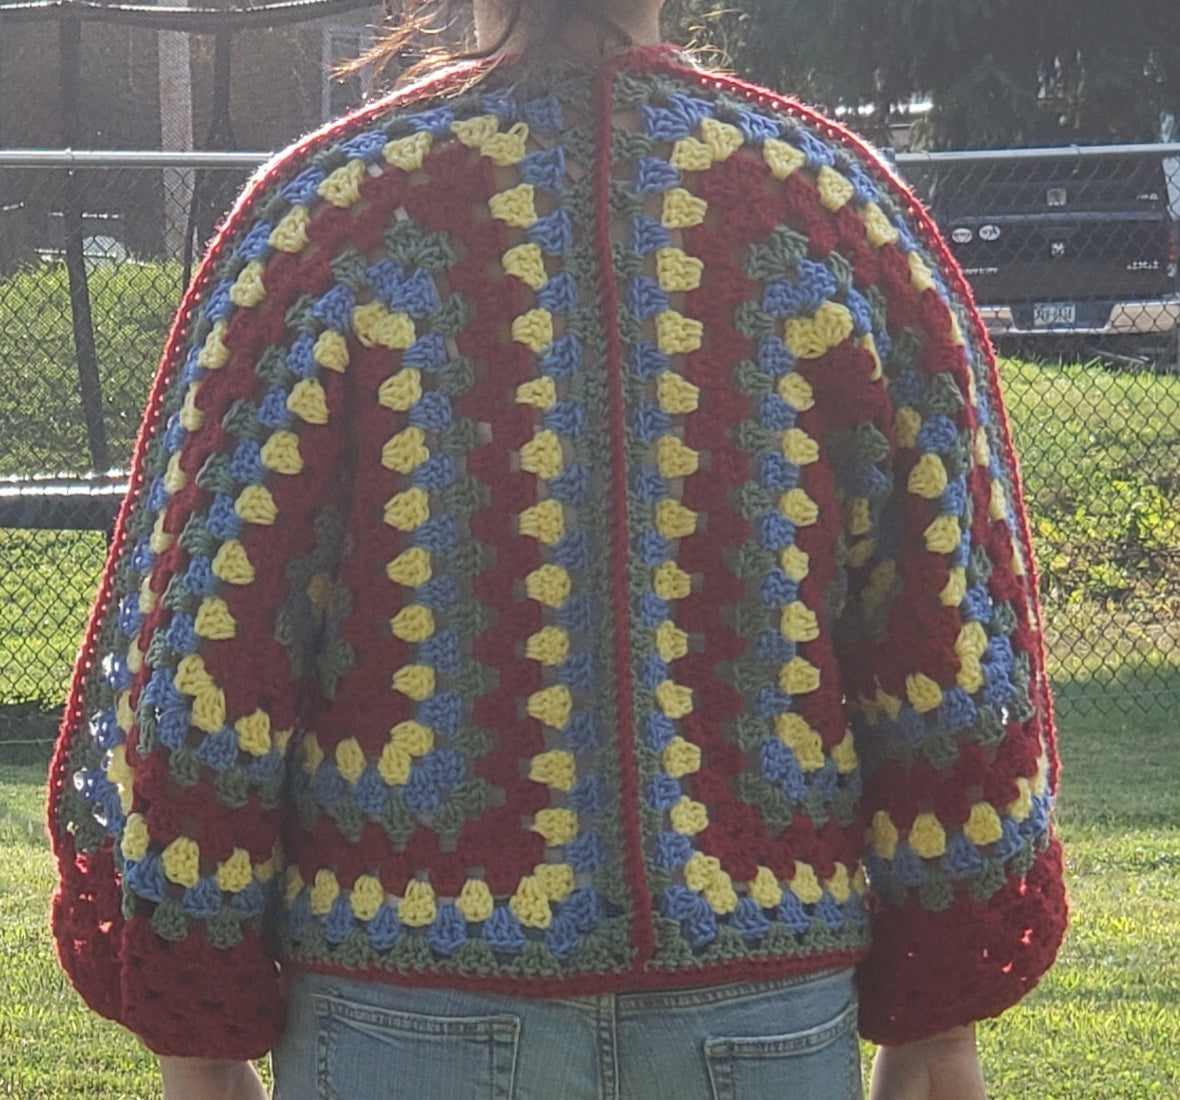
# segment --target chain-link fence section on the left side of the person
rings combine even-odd
[[[0,152],[0,764],[53,734],[186,241],[262,159]]]

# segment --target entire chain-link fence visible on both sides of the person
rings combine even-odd
[[[52,735],[185,279],[173,230],[258,159],[0,152],[0,764]],[[1062,722],[1172,720],[1180,145],[898,168],[999,349]]]

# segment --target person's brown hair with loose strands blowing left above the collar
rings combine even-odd
[[[405,84],[458,61],[480,61],[499,53],[522,25],[531,25],[537,41],[559,35],[562,24],[571,12],[597,24],[603,41],[630,46],[631,37],[609,14],[617,0],[494,0],[505,15],[504,30],[493,42],[479,48],[452,45],[457,34],[453,0],[404,0],[396,22],[374,45],[353,61],[342,65],[342,73],[374,65],[379,77],[394,65],[402,67],[395,83]],[[388,19],[388,17],[387,17]],[[432,40],[440,45],[428,45]],[[450,41],[448,41],[450,40]]]

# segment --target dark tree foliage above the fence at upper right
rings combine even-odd
[[[863,129],[929,99],[931,148],[1153,140],[1180,113],[1176,0],[719,2],[669,0],[674,33]]]

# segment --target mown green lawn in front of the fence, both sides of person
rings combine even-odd
[[[992,1100],[1180,1095],[1176,735],[1165,708],[1063,734],[1073,923],[1041,986],[981,1028]],[[150,1056],[53,961],[42,784],[40,767],[0,768],[0,1096],[146,1100]]]

